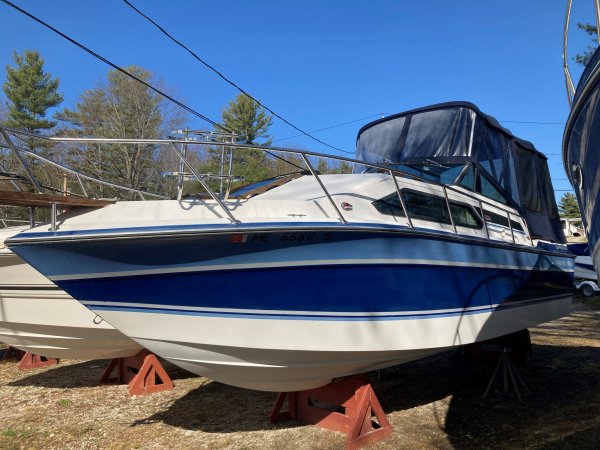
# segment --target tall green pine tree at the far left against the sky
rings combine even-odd
[[[6,67],[3,85],[8,106],[5,125],[31,133],[48,130],[56,122],[45,119],[48,108],[58,106],[63,96],[58,93],[58,78],[44,72],[44,59],[35,50],[13,53],[15,67]]]

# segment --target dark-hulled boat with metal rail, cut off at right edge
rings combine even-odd
[[[596,278],[598,278],[600,274],[600,48],[592,55],[575,89],[567,56],[571,3],[569,1],[567,6],[563,43],[563,68],[571,113],[565,126],[562,157],[565,172],[579,203],[591,258],[596,269]],[[595,0],[594,4],[596,17],[599,18],[600,2]]]

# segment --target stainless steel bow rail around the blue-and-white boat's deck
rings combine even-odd
[[[0,127],[0,132],[1,134],[5,137],[5,141],[8,143],[9,139],[7,139],[8,134],[7,133],[12,133],[16,136],[29,136],[29,137],[35,137],[37,139],[44,139],[44,140],[48,140],[48,141],[53,141],[53,142],[63,142],[63,143],[98,143],[98,144],[132,144],[132,145],[166,145],[167,148],[169,148],[178,158],[180,163],[182,163],[185,167],[188,168],[188,170],[191,172],[191,174],[193,175],[193,177],[200,183],[200,185],[202,186],[202,188],[204,189],[204,191],[210,196],[210,198],[212,200],[215,201],[215,203],[219,206],[219,208],[221,210],[223,210],[223,212],[226,214],[227,218],[231,221],[231,223],[233,224],[241,224],[242,222],[236,218],[233,213],[231,212],[231,210],[227,207],[227,204],[223,201],[223,198],[220,198],[219,195],[217,195],[217,193],[208,185],[208,183],[205,181],[206,176],[201,175],[200,173],[198,173],[194,167],[192,166],[192,164],[190,164],[190,162],[187,160],[186,156],[182,154],[182,152],[177,148],[176,144],[184,144],[184,145],[199,145],[199,146],[221,146],[223,148],[228,147],[229,149],[231,149],[231,155],[233,154],[233,150],[234,149],[238,149],[238,150],[261,150],[264,152],[268,152],[269,154],[272,154],[272,152],[275,153],[284,153],[284,154],[294,154],[294,155],[298,155],[300,156],[300,158],[302,159],[302,161],[304,162],[304,164],[306,165],[308,171],[311,173],[312,176],[315,177],[315,181],[318,183],[320,189],[323,191],[323,194],[325,195],[325,197],[327,198],[327,200],[329,201],[329,203],[332,205],[338,219],[340,220],[340,222],[342,222],[343,224],[348,224],[348,220],[344,217],[344,215],[342,214],[342,212],[340,211],[340,209],[338,208],[338,206],[336,205],[335,201],[333,200],[332,195],[329,193],[329,191],[327,190],[325,184],[323,183],[323,180],[321,179],[321,177],[319,176],[318,172],[314,169],[314,167],[312,166],[312,164],[309,161],[309,157],[317,157],[317,158],[325,158],[325,159],[330,159],[330,160],[334,160],[334,161],[342,161],[342,162],[346,162],[346,163],[351,163],[351,164],[358,164],[360,166],[364,166],[364,167],[368,167],[368,168],[372,168],[372,169],[376,169],[380,172],[383,173],[388,173],[391,177],[391,179],[394,182],[394,186],[396,189],[396,194],[398,195],[398,199],[400,202],[400,205],[403,209],[403,212],[405,214],[405,217],[407,219],[407,224],[409,228],[414,228],[414,223],[412,221],[412,218],[410,217],[410,213],[409,210],[407,208],[406,202],[404,201],[403,197],[402,197],[402,190],[400,189],[400,186],[398,184],[398,179],[397,177],[400,178],[405,178],[405,179],[411,179],[411,180],[416,180],[416,181],[422,181],[422,182],[427,182],[430,185],[434,185],[434,186],[438,186],[441,189],[441,193],[444,197],[445,203],[446,203],[446,208],[448,210],[448,214],[450,217],[450,223],[452,225],[452,230],[455,234],[459,234],[458,231],[458,227],[454,221],[454,217],[452,215],[452,208],[451,208],[451,201],[448,195],[448,191],[453,192],[453,193],[457,193],[461,196],[466,196],[471,198],[472,200],[474,200],[475,202],[477,202],[479,204],[479,208],[482,214],[482,221],[483,221],[483,225],[485,228],[485,232],[486,232],[486,236],[488,239],[490,239],[490,231],[487,225],[487,221],[485,219],[485,213],[484,213],[484,205],[492,207],[492,208],[496,208],[496,209],[500,209],[503,212],[505,212],[507,214],[508,217],[508,225],[510,227],[510,231],[511,231],[511,236],[512,236],[512,241],[513,243],[516,243],[516,238],[515,238],[515,233],[512,227],[512,223],[511,223],[511,214],[513,214],[511,211],[506,210],[502,207],[499,207],[498,205],[495,205],[491,202],[487,202],[485,200],[480,199],[479,197],[475,197],[473,196],[471,193],[469,192],[465,192],[465,190],[463,188],[457,188],[455,186],[452,185],[445,185],[442,183],[437,183],[435,181],[430,181],[430,180],[426,180],[422,177],[419,177],[417,175],[413,175],[413,174],[409,174],[406,172],[403,172],[401,170],[397,170],[394,168],[391,168],[387,165],[382,165],[382,164],[376,164],[376,163],[369,163],[366,161],[361,161],[361,160],[356,160],[356,159],[352,159],[352,158],[346,158],[346,157],[342,157],[342,156],[336,156],[336,155],[324,155],[321,153],[316,153],[316,152],[311,152],[311,151],[306,151],[306,150],[296,150],[296,149],[290,149],[290,148],[279,148],[279,147],[260,147],[257,145],[250,145],[250,144],[240,144],[240,143],[232,143],[232,142],[203,142],[203,141],[190,141],[190,140],[179,140],[179,139],[114,139],[114,138],[72,138],[72,137],[49,137],[49,136],[39,136],[39,135],[35,135],[32,133],[28,133],[25,131],[19,131],[19,130],[13,130],[10,128],[2,128]],[[28,156],[31,156],[33,158],[37,158],[47,164],[50,164],[52,166],[55,166],[57,168],[60,168],[61,170],[64,170],[67,173],[71,173],[73,175],[76,176],[82,191],[84,192],[84,195],[87,195],[87,192],[85,190],[85,186],[82,182],[82,178],[89,180],[89,181],[94,181],[115,189],[123,189],[123,190],[127,190],[130,192],[134,192],[136,194],[138,194],[142,200],[144,200],[144,194],[145,195],[151,195],[151,196],[155,196],[158,198],[163,198],[163,199],[167,199],[169,197],[164,196],[164,195],[160,195],[160,194],[156,194],[156,193],[152,193],[152,192],[146,192],[146,191],[142,191],[139,189],[134,189],[134,188],[130,188],[130,187],[126,187],[126,186],[120,186],[117,185],[115,183],[111,183],[111,182],[107,182],[104,180],[100,180],[98,178],[95,177],[91,177],[89,175],[85,175],[82,174],[80,172],[77,172],[67,166],[64,166],[62,164],[56,163],[54,161],[51,161],[47,158],[44,158],[40,155],[37,155],[34,152],[31,152],[29,150],[25,150],[22,148],[19,148],[18,146],[15,146],[14,144],[2,144],[0,142],[0,148],[8,148],[12,151],[14,151],[15,153],[19,154],[19,153],[24,153]],[[233,160],[232,156],[230,156],[230,162]],[[229,167],[229,174],[231,174],[231,165]],[[229,192],[229,188],[227,189],[227,194]],[[222,193],[221,193],[222,194]],[[227,197],[225,197],[226,199]],[[54,214],[53,214],[54,215]],[[529,234],[529,230],[527,229],[526,234],[528,236],[529,242],[531,243],[531,245],[533,245],[533,241],[531,239],[531,236]]]

